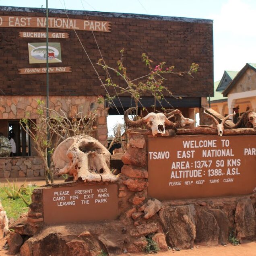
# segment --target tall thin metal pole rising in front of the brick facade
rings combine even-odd
[[[46,118],[49,118],[49,58],[48,58],[48,45],[49,45],[49,35],[48,35],[48,0],[46,0]],[[47,127],[47,141],[50,140],[49,128]],[[47,148],[47,164],[50,168],[51,157],[48,155],[50,148]]]

